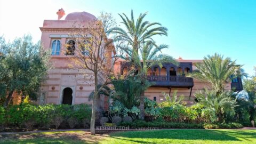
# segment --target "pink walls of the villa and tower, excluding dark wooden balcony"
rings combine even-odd
[[[91,104],[91,101],[89,101],[89,94],[94,90],[94,84],[89,78],[84,78],[81,71],[69,68],[68,65],[72,61],[69,59],[69,55],[65,55],[65,45],[72,40],[69,33],[73,28],[72,26],[75,21],[87,25],[88,22],[96,18],[94,15],[87,12],[75,12],[68,14],[65,20],[60,20],[65,12],[60,9],[57,14],[58,20],[44,20],[43,27],[40,28],[42,31],[42,45],[45,50],[52,51],[51,61],[54,68],[49,70],[47,80],[42,84],[41,97],[39,98],[38,103],[68,103],[72,105],[78,103]],[[202,62],[202,60],[183,59],[178,59],[177,61],[191,62],[193,63],[193,69],[195,69],[194,64],[196,62]],[[121,73],[121,61],[116,63],[115,72]],[[88,71],[87,74],[90,75],[91,72]],[[164,69],[154,72],[154,75],[166,74],[166,70]],[[149,71],[148,75],[153,74]],[[188,105],[191,105],[194,101],[194,93],[198,90],[203,90],[205,86],[207,86],[207,84],[198,82],[194,79],[192,90],[187,88],[175,88],[171,89],[171,94],[174,90],[178,90],[178,95],[184,95]],[[231,89],[230,83],[227,83],[226,89]],[[189,99],[190,90],[191,98]],[[150,87],[145,92],[145,95],[149,99],[161,102],[164,100],[162,92],[169,93],[170,89],[166,87]],[[106,104],[107,99],[104,97],[101,98],[101,106],[104,106],[103,101],[105,101]],[[104,107],[106,108],[107,105]]]

